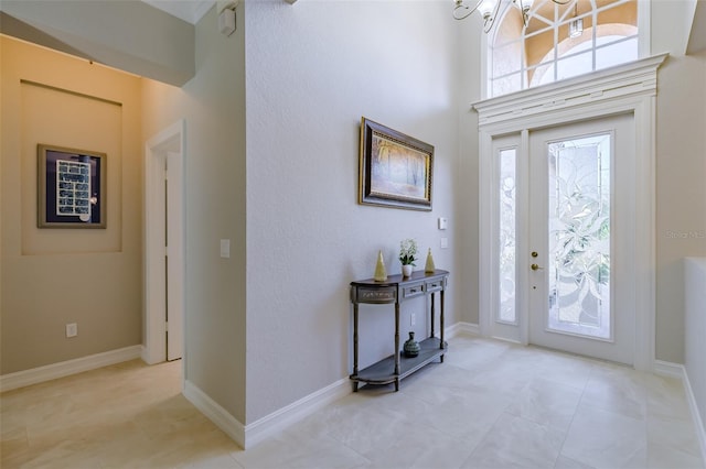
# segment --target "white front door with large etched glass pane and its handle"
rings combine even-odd
[[[632,364],[633,117],[530,132],[528,150],[527,341]]]

